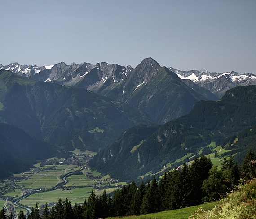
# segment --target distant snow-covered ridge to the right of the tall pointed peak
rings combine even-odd
[[[237,72],[208,72],[205,69],[201,71],[190,70],[181,71],[177,69],[169,68],[181,79],[189,79],[200,87],[203,87],[217,97],[221,98],[227,90],[236,86],[256,85],[256,76],[252,73],[238,74]]]

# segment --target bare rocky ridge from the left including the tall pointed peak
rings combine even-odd
[[[135,69],[104,62],[96,65],[66,65],[61,62],[50,67],[44,67],[42,71],[29,77],[35,81],[86,88],[143,110],[156,123],[165,123],[185,115],[196,101],[217,99],[207,90],[202,92],[195,84],[192,86],[182,82],[175,73],[161,67],[152,58],[144,59]],[[4,69],[6,68],[15,73],[18,73],[15,69],[22,69],[17,63],[5,66]]]

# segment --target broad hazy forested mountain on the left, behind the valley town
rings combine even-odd
[[[0,71],[0,122],[15,125],[52,147],[97,151],[125,129],[151,123],[125,103],[88,90],[34,82]]]

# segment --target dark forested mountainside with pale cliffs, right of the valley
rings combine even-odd
[[[124,149],[122,144],[116,144],[100,151],[90,165],[102,173],[111,169],[123,180],[130,180],[126,172],[132,179],[151,170],[156,173],[184,155],[197,155],[200,150],[207,150],[211,142],[220,144],[226,137],[255,125],[255,105],[256,86],[238,86],[229,90],[220,101],[195,103],[189,114],[161,125],[136,150],[132,150],[136,145],[127,145]],[[121,147],[132,150],[128,158],[119,156]],[[122,166],[123,170],[117,166]]]

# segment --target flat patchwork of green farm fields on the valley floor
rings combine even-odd
[[[71,204],[74,205],[75,203],[83,203],[92,192],[92,189],[96,194],[101,195],[103,187],[106,189],[106,193],[110,193],[115,190],[115,185],[126,184],[126,182],[107,182],[106,180],[110,176],[101,176],[99,172],[91,172],[85,168],[81,171],[83,174],[67,176],[67,183],[61,188],[47,191],[47,189],[51,189],[62,182],[62,175],[79,170],[81,165],[86,166],[88,156],[91,156],[91,154],[79,150],[76,150],[75,153],[77,154],[72,159],[75,159],[79,165],[74,164],[75,162],[67,162],[65,159],[50,158],[36,163],[34,168],[27,172],[15,174],[13,179],[7,181],[13,181],[19,189],[13,189],[11,192],[5,193],[5,196],[14,198],[30,191],[31,195],[19,201],[20,204],[35,207],[36,202],[41,205],[46,202],[48,204],[56,203],[59,198],[62,200],[68,198]],[[38,193],[39,190],[42,190],[42,192]],[[35,191],[37,192],[35,193]],[[4,200],[0,201],[0,207],[4,207],[4,203]],[[20,209],[17,206],[14,207],[15,211],[19,212]]]

